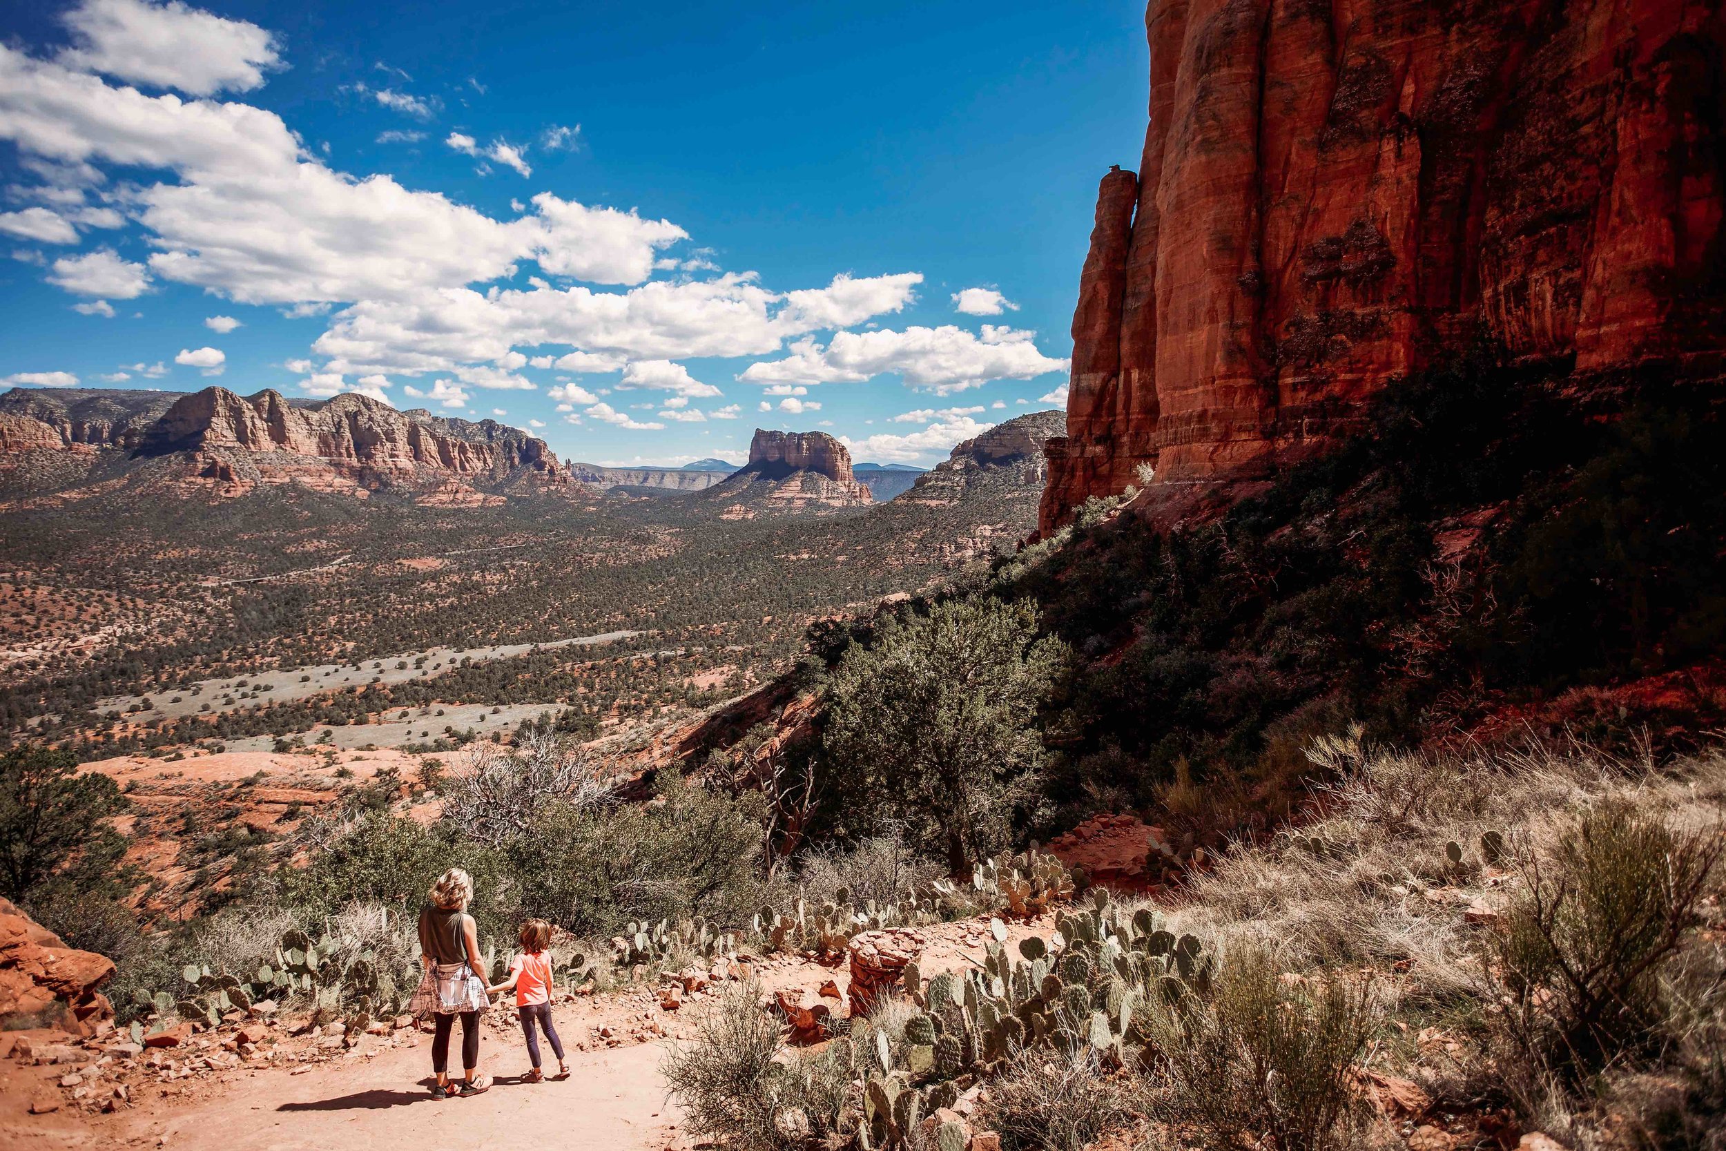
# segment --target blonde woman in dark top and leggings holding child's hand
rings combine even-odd
[[[480,1011],[490,999],[485,980],[480,978],[480,939],[468,915],[473,903],[473,878],[461,868],[444,871],[432,885],[432,903],[419,913],[419,963],[425,966],[430,987],[432,1016],[437,1034],[432,1039],[432,1070],[437,1073],[433,1099],[449,1096],[476,1096],[490,1089],[492,1077],[478,1073],[480,1065]],[[461,1016],[461,1084],[449,1080],[449,1035]]]

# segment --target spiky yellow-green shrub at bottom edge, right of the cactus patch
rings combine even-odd
[[[1144,1004],[1139,1020],[1156,1053],[1151,1115],[1205,1148],[1339,1146],[1348,1072],[1374,1016],[1365,982],[1288,982],[1269,953],[1243,947],[1227,956],[1212,997]]]

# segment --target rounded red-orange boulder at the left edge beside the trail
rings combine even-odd
[[[93,951],[67,947],[59,935],[0,899],[0,1028],[62,1027],[114,1015],[100,987],[114,963]]]

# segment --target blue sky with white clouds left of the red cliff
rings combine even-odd
[[[0,380],[929,464],[1049,407],[1143,3],[0,10]],[[766,406],[766,411],[763,411]]]

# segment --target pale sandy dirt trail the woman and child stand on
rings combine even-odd
[[[1049,921],[1015,923],[1010,939],[1049,930]],[[918,961],[925,973],[958,970],[984,958],[989,918],[939,923],[918,934],[925,940]],[[830,966],[806,956],[744,961],[765,996],[796,989],[813,1003],[825,987],[823,1001],[844,1013],[849,980],[842,963]],[[696,1141],[666,1098],[659,1063],[673,1042],[696,1034],[702,1013],[737,984],[715,982],[670,997],[666,985],[644,982],[554,1004],[571,1072],[561,1082],[521,1082],[528,1070],[526,1046],[507,1003],[485,1015],[480,1068],[494,1084],[473,1098],[432,1098],[432,1037],[418,1028],[361,1035],[352,1047],[342,1047],[338,1039],[319,1044],[314,1037],[288,1037],[278,1028],[280,1037],[268,1041],[273,1049],[261,1046],[250,1061],[231,1060],[219,1068],[174,1075],[131,1063],[126,1070],[110,1068],[116,1079],[131,1084],[129,1099],[112,1113],[79,1110],[71,1099],[47,1115],[0,1106],[0,1148],[687,1151]],[[668,1008],[668,1001],[677,1006]],[[459,1034],[450,1046],[459,1066]],[[542,1051],[545,1072],[556,1072],[544,1041]],[[31,1092],[40,1098],[54,1091],[52,1080],[64,1070],[9,1066],[16,1077],[7,1077],[0,1094],[14,1096],[19,1104]],[[86,1084],[109,1082],[100,1068],[81,1070]]]

